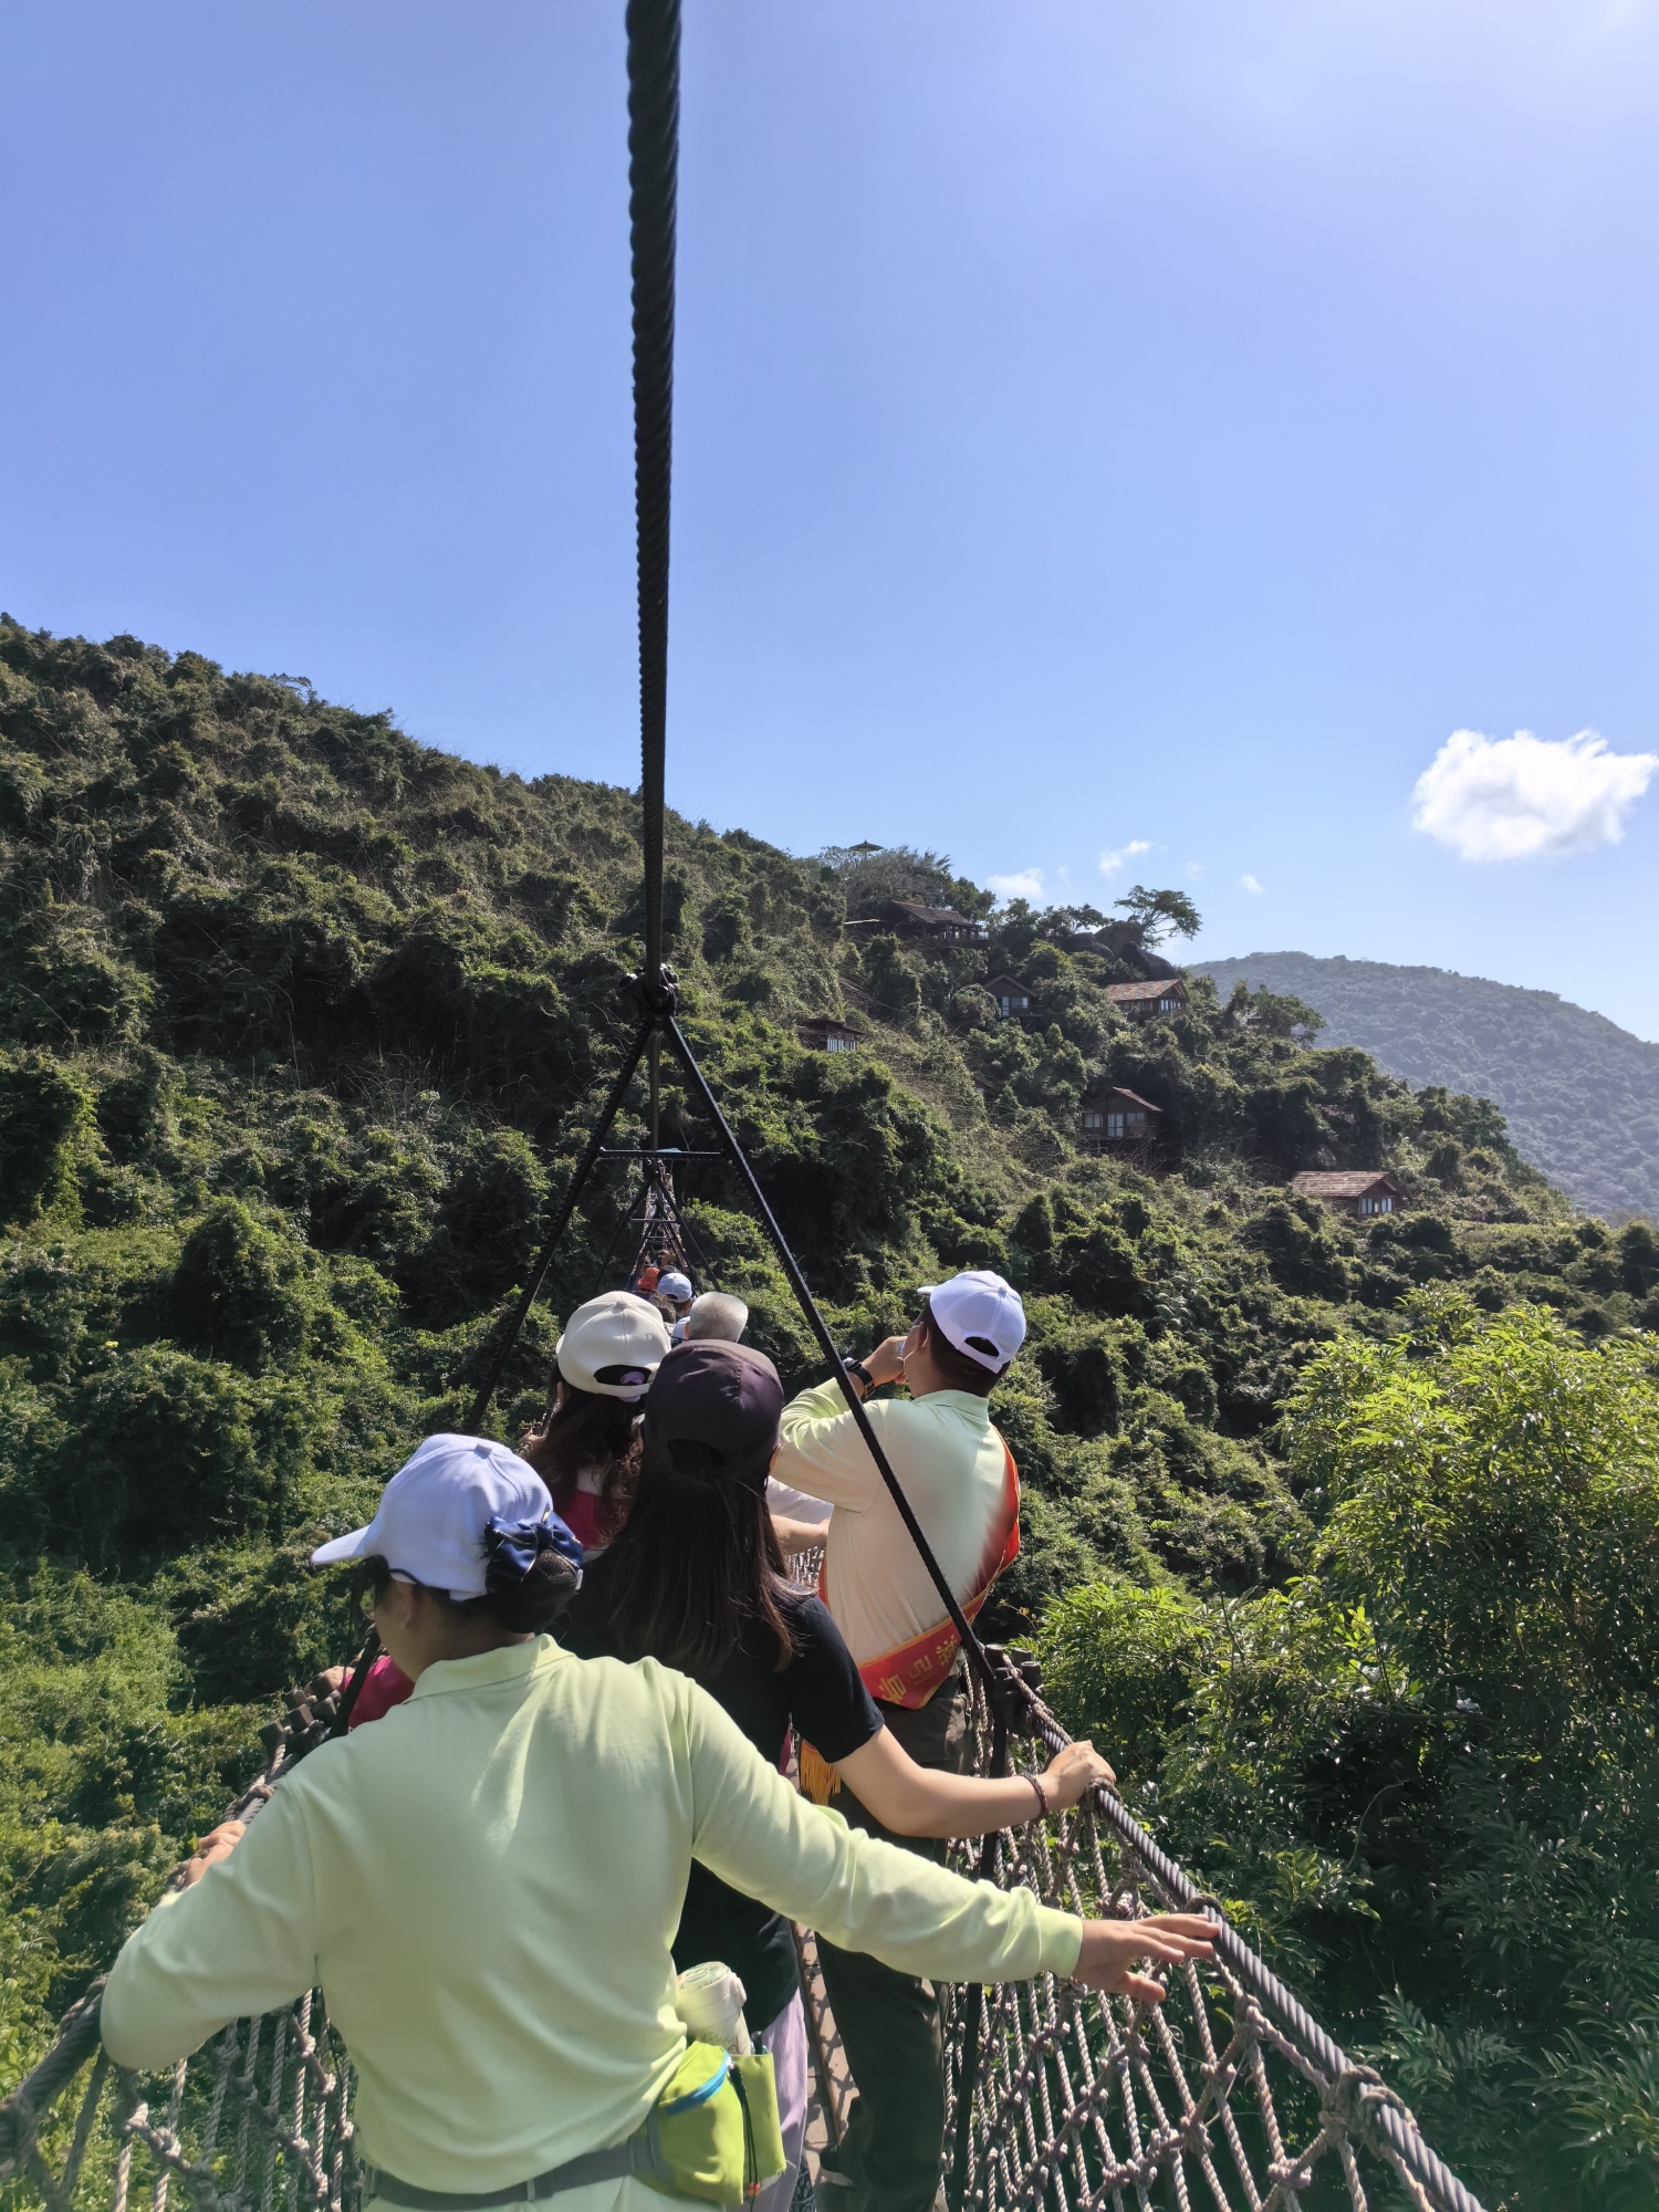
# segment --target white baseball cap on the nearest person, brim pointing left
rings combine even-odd
[[[383,1557],[396,1575],[484,1595],[484,1528],[549,1520],[553,1498],[529,1460],[487,1436],[429,1436],[380,1491],[367,1528],[319,1544],[312,1566]]]

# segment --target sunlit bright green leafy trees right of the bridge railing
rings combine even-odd
[[[1060,1710],[1486,2203],[1659,2185],[1659,1345],[1405,1301],[1303,1371],[1279,1590],[1066,1593]]]

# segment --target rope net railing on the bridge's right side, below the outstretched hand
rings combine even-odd
[[[978,1770],[1000,1770],[1002,1732],[971,1697]],[[1022,1705],[1015,1730],[1037,1756],[1062,1750],[1035,1686]],[[1110,1790],[956,1858],[1064,1911],[1208,1909],[1221,1924],[1217,1958],[1170,1969],[1161,2006],[1053,1975],[947,1991],[953,2205],[1480,2212],[1380,2075],[1325,2035]]]

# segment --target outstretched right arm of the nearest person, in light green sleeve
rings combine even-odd
[[[653,1661],[644,1661],[653,1666]],[[867,1951],[900,1973],[942,1982],[1022,1982],[1079,1975],[1155,2002],[1137,1958],[1210,1951],[1194,1916],[1084,1922],[1029,1889],[967,1882],[914,1851],[849,1829],[810,1805],[768,1765],[697,1683],[661,1672],[681,1701],[692,1781],[692,1854],[732,1889],[816,1929],[843,1951]]]

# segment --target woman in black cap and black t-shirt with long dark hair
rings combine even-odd
[[[856,1792],[894,1834],[982,1836],[1075,1805],[1113,1770],[1073,1743],[1044,1774],[982,1781],[920,1767],[883,1725],[823,1604],[792,1588],[765,1478],[783,1385],[750,1345],[684,1343],[644,1398],[641,1464],[628,1526],[586,1568],[560,1630],[582,1657],[659,1659],[699,1681],[768,1761],[790,1730],[803,1763]],[[810,1747],[810,1752],[807,1752]],[[759,2212],[787,2205],[801,2161],[807,2046],[787,1922],[695,1865],[675,1964],[721,1960],[743,1982],[743,2017],[772,2053],[790,2170]]]

